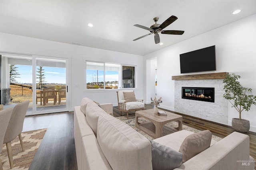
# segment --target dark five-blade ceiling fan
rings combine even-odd
[[[155,22],[158,21],[158,17],[154,18],[153,20]],[[146,35],[143,35],[141,37],[138,37],[136,39],[134,39],[133,41],[136,41],[138,39],[141,39],[143,37],[146,37],[148,35],[151,35],[151,34],[155,34],[155,43],[158,44],[160,43],[160,37],[159,37],[159,34],[158,33],[162,33],[162,34],[174,34],[174,35],[182,35],[184,33],[184,31],[177,31],[177,30],[166,30],[164,31],[163,29],[165,27],[167,27],[168,25],[170,25],[171,23],[173,23],[175,20],[177,20],[178,18],[176,16],[170,16],[170,18],[168,18],[167,20],[165,20],[162,24],[158,24],[158,23],[155,23],[153,25],[150,26],[150,28],[148,27],[145,27],[143,25],[139,25],[139,24],[135,24],[134,26],[136,27],[140,27],[140,28],[143,28],[143,29],[146,29],[146,30],[149,30],[150,33],[149,34],[146,34]]]

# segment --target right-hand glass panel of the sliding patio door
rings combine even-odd
[[[36,111],[66,110],[66,60],[36,58]]]

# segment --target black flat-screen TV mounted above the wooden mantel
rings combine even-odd
[[[180,73],[216,70],[215,45],[180,54]]]

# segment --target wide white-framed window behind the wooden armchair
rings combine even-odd
[[[88,61],[86,89],[135,88],[134,75],[135,66]]]

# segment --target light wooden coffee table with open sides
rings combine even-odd
[[[144,131],[147,135],[156,139],[162,137],[164,135],[173,133],[175,131],[182,130],[182,116],[177,115],[171,112],[166,111],[167,116],[154,114],[154,109],[147,109],[135,112],[135,126]],[[138,123],[138,117],[144,117],[148,119],[150,122]],[[164,126],[166,123],[176,121],[178,122],[178,127],[166,127]]]

